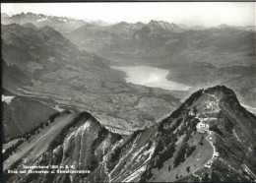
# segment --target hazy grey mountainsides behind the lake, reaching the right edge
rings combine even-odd
[[[122,22],[108,27],[90,27],[90,29],[86,29],[88,28],[86,25],[67,36],[85,49],[92,50],[94,48],[95,52],[102,56],[112,59],[125,56],[123,61],[126,58],[168,57],[170,59],[173,54],[184,53],[184,49],[214,48],[221,53],[243,51],[248,48],[253,50],[252,44],[254,45],[254,31],[238,30],[232,27],[183,30],[175,24],[162,21],[151,21],[147,25],[138,25],[138,23]],[[123,40],[121,43],[119,42],[120,37]],[[102,44],[107,45],[106,50],[103,50],[100,44],[96,44],[99,39]],[[87,41],[93,45],[86,44]],[[120,53],[118,54],[118,52]]]

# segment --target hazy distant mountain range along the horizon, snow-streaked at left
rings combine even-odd
[[[90,21],[90,20],[79,20],[79,19],[73,19],[73,18],[67,18],[67,17],[56,17],[56,16],[46,16],[43,14],[33,14],[33,13],[21,13],[21,14],[16,14],[16,15],[12,15],[9,16],[6,13],[1,13],[1,23],[2,24],[26,24],[26,23],[32,23],[33,25],[35,25],[36,27],[43,27],[43,26],[50,26],[52,28],[54,28],[55,30],[58,30],[62,33],[67,33],[70,32],[72,30],[76,30],[81,26],[87,25],[87,24],[93,24],[93,25],[97,25],[97,26],[108,26],[110,24],[103,22],[103,21]],[[121,23],[117,23],[115,24],[115,26],[113,28],[117,28],[117,30],[114,30],[115,32],[120,32],[120,30],[118,30],[119,26],[121,27],[130,27],[129,30],[133,30],[137,27],[137,28],[142,28],[143,26],[145,26],[146,24],[138,22],[136,24],[129,24],[129,23],[125,23],[125,22],[121,22]],[[169,24],[167,22],[163,22],[163,21],[150,21],[148,23],[148,25],[150,27],[152,27],[153,29],[157,29],[159,30],[159,26],[161,27],[161,29],[163,30],[172,30],[172,31],[182,31],[182,30],[206,30],[209,28],[203,27],[203,26],[187,26],[187,25],[182,25],[182,24]],[[134,27],[134,28],[131,28]],[[255,26],[247,26],[247,27],[234,27],[234,26],[228,26],[228,25],[220,25],[217,27],[212,27],[212,28],[217,28],[217,29],[223,29],[223,28],[233,28],[233,29],[237,29],[237,30],[251,30],[254,31],[255,30]],[[111,29],[110,29],[111,30]]]

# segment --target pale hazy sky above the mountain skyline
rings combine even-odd
[[[151,20],[189,26],[255,25],[255,2],[2,3],[7,14],[32,12],[108,23]]]

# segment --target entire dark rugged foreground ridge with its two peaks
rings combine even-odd
[[[207,130],[197,129],[207,123]],[[71,113],[42,130],[11,155],[4,168],[63,164],[89,174],[9,174],[7,182],[252,181],[255,179],[256,117],[233,91],[196,91],[171,115],[150,128],[121,136],[89,113]],[[63,126],[65,125],[65,126]],[[58,127],[52,134],[50,129]],[[40,147],[40,144],[45,146]],[[35,148],[38,146],[40,148]],[[32,150],[32,151],[30,151]],[[40,152],[40,153],[36,153]],[[218,155],[216,155],[218,153]],[[26,157],[26,161],[19,160]]]

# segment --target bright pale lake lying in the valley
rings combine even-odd
[[[187,91],[190,87],[176,82],[168,81],[166,76],[168,70],[149,66],[128,66],[111,67],[112,69],[126,73],[127,83],[147,86],[151,88],[161,88],[169,91]]]

